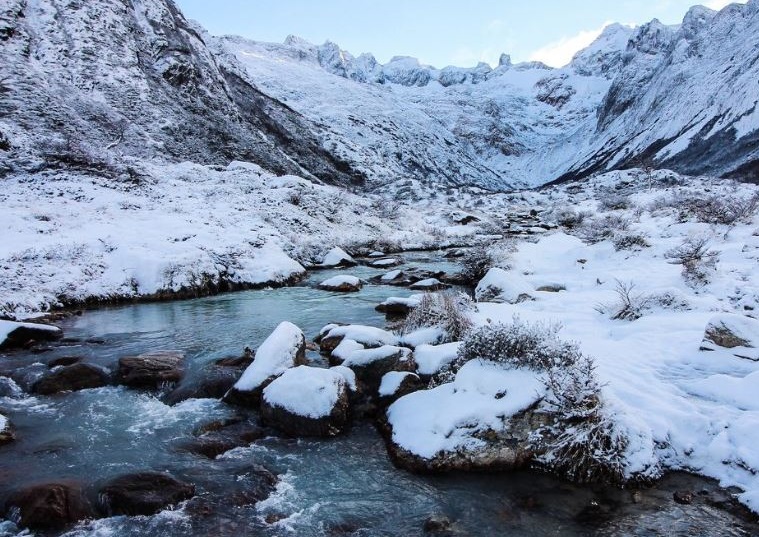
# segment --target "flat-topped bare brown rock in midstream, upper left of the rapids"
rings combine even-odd
[[[131,388],[159,388],[162,384],[178,382],[182,378],[184,353],[158,351],[124,356],[119,359],[119,384]]]

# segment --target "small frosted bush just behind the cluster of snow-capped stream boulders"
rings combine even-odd
[[[445,330],[447,341],[458,341],[472,328],[469,314],[474,308],[472,300],[464,293],[425,293],[400,328],[406,334],[419,328],[436,326]]]

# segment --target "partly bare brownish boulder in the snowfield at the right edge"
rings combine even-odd
[[[738,358],[759,361],[759,320],[732,313],[712,317],[706,325],[701,350],[729,349]]]

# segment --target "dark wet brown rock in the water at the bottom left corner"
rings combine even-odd
[[[77,483],[45,483],[16,491],[5,502],[5,516],[32,530],[61,530],[95,511]]]

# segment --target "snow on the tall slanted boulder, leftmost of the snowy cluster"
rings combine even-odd
[[[305,342],[303,332],[294,324],[284,321],[267,337],[256,350],[256,356],[234,388],[252,391],[268,378],[281,375],[295,365],[295,358]]]

